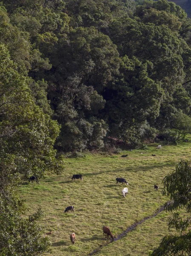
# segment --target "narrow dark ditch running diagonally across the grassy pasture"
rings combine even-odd
[[[170,201],[168,202],[170,203]],[[142,224],[143,222],[145,222],[148,219],[154,218],[155,216],[157,216],[160,212],[162,212],[165,209],[165,206],[163,205],[160,209],[157,209],[157,211],[148,217],[145,217],[144,219],[142,219],[141,221],[135,222],[133,225],[131,225],[130,227],[128,227],[123,233],[121,233],[119,236],[117,236],[117,238],[114,238],[114,241],[118,241],[119,239],[123,238],[128,232],[131,232],[132,230],[134,230],[138,225]],[[114,242],[113,240],[111,240],[109,243],[104,244],[103,246],[100,246],[98,249],[94,250],[92,253],[88,254],[88,256],[93,255],[94,253],[97,253],[100,249],[102,249],[103,247],[107,246],[108,244]]]

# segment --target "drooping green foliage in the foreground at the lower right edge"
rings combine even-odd
[[[180,236],[165,236],[161,244],[150,255],[189,255],[191,251],[191,163],[180,161],[176,171],[167,175],[164,180],[163,195],[168,195],[171,202],[165,205],[167,211],[174,212],[169,218],[169,227],[175,227],[183,232]],[[185,209],[188,214],[179,212]]]

